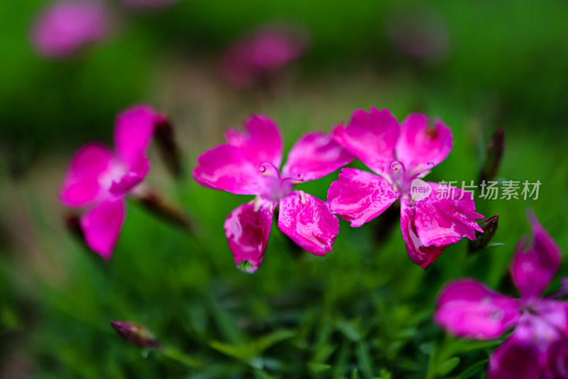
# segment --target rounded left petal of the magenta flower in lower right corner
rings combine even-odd
[[[456,336],[470,339],[496,339],[519,319],[518,300],[473,279],[449,282],[436,304],[435,322]]]

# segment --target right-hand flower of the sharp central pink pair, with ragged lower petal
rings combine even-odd
[[[434,128],[429,124],[422,114],[411,114],[400,127],[386,109],[355,111],[348,126],[334,128],[334,139],[380,176],[344,168],[327,193],[332,212],[351,226],[371,221],[400,199],[406,250],[422,268],[428,268],[444,248],[461,237],[474,240],[475,231],[483,231],[475,221],[483,216],[475,212],[469,192],[420,181],[431,193],[423,199],[411,197],[413,180],[424,177],[452,150],[449,128],[439,120]],[[441,192],[453,195],[440,198]]]

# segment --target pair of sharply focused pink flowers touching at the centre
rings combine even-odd
[[[246,272],[256,271],[262,263],[276,211],[284,234],[323,256],[332,251],[339,233],[333,214],[351,226],[361,226],[400,199],[400,229],[407,251],[423,268],[461,237],[474,240],[475,231],[483,232],[475,221],[483,216],[475,212],[469,192],[464,191],[461,199],[410,199],[413,180],[424,177],[452,149],[452,134],[441,121],[430,128],[426,116],[415,114],[400,127],[386,109],[359,110],[348,126],[337,126],[331,134],[302,136],[282,172],[282,138],[275,123],[266,116],[253,116],[244,125],[246,133],[229,131],[226,144],[198,158],[193,177],[206,187],[256,196],[231,212],[224,225],[235,262]],[[344,168],[329,187],[327,204],[293,191],[300,182],[320,179],[354,156],[381,176]]]

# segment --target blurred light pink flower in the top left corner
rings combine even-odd
[[[44,57],[66,57],[105,38],[109,24],[109,13],[100,1],[59,1],[35,22],[33,44]]]

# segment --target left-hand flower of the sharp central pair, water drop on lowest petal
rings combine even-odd
[[[227,143],[200,155],[193,171],[205,187],[256,195],[234,209],[224,224],[237,267],[253,273],[261,265],[275,212],[278,228],[299,246],[317,256],[331,252],[339,221],[322,200],[293,187],[320,179],[353,157],[331,136],[307,133],[290,150],[280,171],[283,141],[276,123],[257,115],[244,127],[244,133],[227,131]]]

